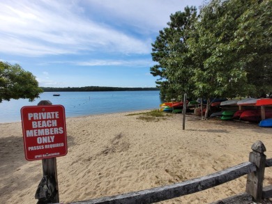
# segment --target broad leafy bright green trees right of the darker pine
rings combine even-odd
[[[271,90],[271,1],[212,0],[199,16],[188,40],[195,95],[259,97]]]

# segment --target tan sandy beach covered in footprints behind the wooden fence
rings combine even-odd
[[[149,121],[113,113],[67,118],[68,154],[57,157],[62,203],[139,191],[215,173],[248,161],[262,141],[272,158],[272,129],[239,121],[182,115]],[[24,159],[21,123],[0,124],[0,203],[37,203],[41,160]],[[211,203],[245,191],[243,176],[218,187],[160,203]],[[266,168],[265,185],[272,185]]]

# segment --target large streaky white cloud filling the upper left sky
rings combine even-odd
[[[139,40],[82,15],[77,1],[0,2],[0,52],[24,56],[121,52],[146,54],[151,40]]]

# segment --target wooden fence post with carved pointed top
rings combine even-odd
[[[250,194],[255,201],[262,200],[262,189],[264,182],[264,169],[266,166],[266,147],[262,141],[256,141],[252,147],[252,152],[249,155],[249,162],[257,166],[257,171],[249,173],[245,191]]]

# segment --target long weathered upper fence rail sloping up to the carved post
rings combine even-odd
[[[164,187],[156,187],[153,189],[146,189],[142,191],[135,191],[128,194],[121,194],[117,196],[109,196],[104,198],[91,199],[89,201],[78,201],[70,204],[136,204],[136,203],[156,203],[168,199],[193,194],[198,191],[203,191],[222,183],[229,182],[236,178],[246,175],[250,172],[256,171],[255,164],[245,162],[223,171],[212,173],[201,178],[179,182],[174,185],[167,185]]]

